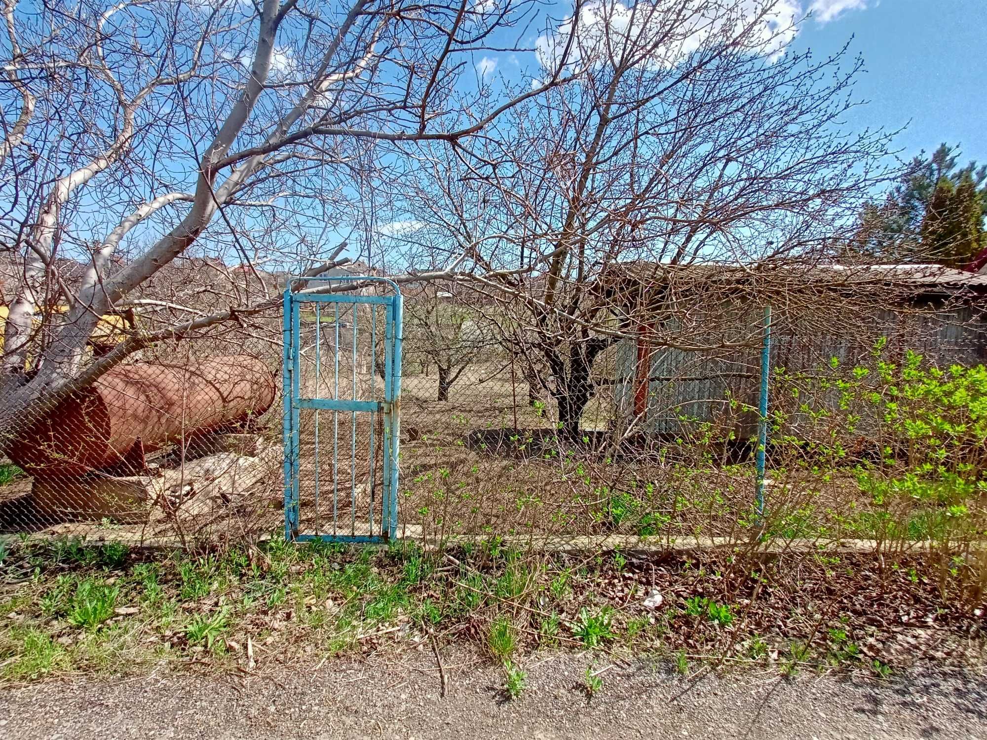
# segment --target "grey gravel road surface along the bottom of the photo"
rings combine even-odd
[[[745,671],[692,681],[647,664],[577,690],[587,659],[529,661],[528,690],[504,702],[499,673],[443,651],[390,662],[328,662],[265,677],[70,679],[0,691],[0,737],[21,738],[987,738],[987,678],[919,672],[887,682]],[[597,663],[594,670],[605,668]]]

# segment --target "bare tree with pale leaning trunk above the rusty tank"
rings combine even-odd
[[[391,176],[388,147],[465,146],[562,84],[560,62],[481,107],[460,83],[471,53],[533,7],[4,0],[0,435],[144,346],[276,307],[286,265],[339,263],[339,250],[324,262]],[[167,280],[148,294],[180,258],[240,271],[222,289],[192,281],[191,305]],[[127,304],[152,326],[94,359],[100,317]]]

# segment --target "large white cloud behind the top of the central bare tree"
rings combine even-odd
[[[830,0],[841,1],[854,0]],[[770,3],[767,13],[749,33],[742,33],[766,3]],[[610,53],[616,56],[623,45],[633,43],[645,49],[653,45],[642,65],[671,67],[705,43],[718,39],[730,39],[748,53],[774,60],[796,37],[794,24],[801,16],[797,0],[737,0],[732,5],[718,6],[713,14],[705,0],[642,0],[631,6],[615,0],[590,0],[579,9],[574,23],[569,17],[555,33],[538,37],[535,53],[543,66],[556,66],[574,26],[575,43],[569,63],[575,65],[604,64]]]

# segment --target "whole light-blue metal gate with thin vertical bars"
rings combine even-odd
[[[288,540],[381,542],[397,531],[401,301],[397,283],[382,277],[288,280]]]

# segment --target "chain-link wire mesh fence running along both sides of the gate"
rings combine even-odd
[[[971,543],[985,530],[987,421],[974,400],[987,390],[987,334],[973,301],[881,298],[865,311],[818,291],[670,303],[666,291],[587,352],[599,333],[549,331],[520,297],[440,282],[403,292],[399,536],[672,547],[767,533],[899,547]],[[617,316],[624,304],[606,300]],[[762,519],[754,440],[767,303]],[[362,308],[302,308],[301,396],[380,395],[383,309]],[[148,301],[128,321],[147,333],[161,311]],[[131,331],[101,326],[84,366]],[[187,547],[282,536],[281,363],[269,307],[130,354],[5,439],[4,530]],[[369,411],[300,411],[300,532],[380,530],[382,423]]]

